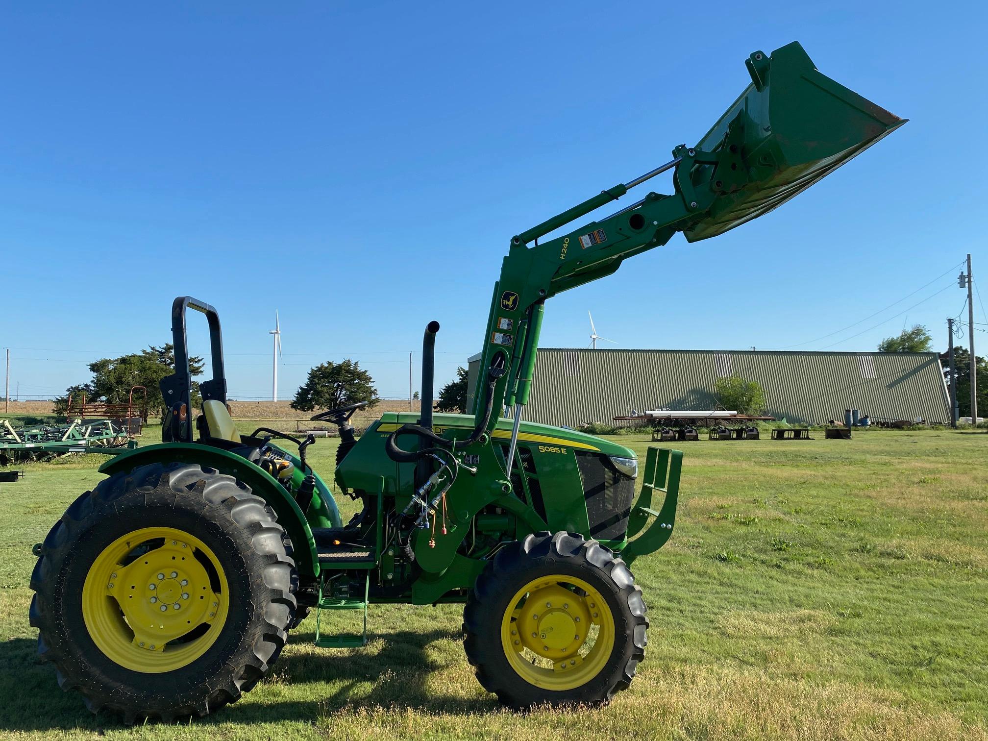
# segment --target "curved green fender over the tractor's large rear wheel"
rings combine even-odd
[[[279,524],[291,538],[298,573],[313,578],[319,575],[319,552],[301,508],[271,474],[236,453],[195,443],[160,443],[121,453],[107,460],[99,470],[109,476],[148,463],[172,460],[215,468],[249,486],[254,494],[271,506],[278,515]]]

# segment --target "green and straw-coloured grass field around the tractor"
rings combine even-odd
[[[25,479],[0,485],[0,733],[988,738],[988,435],[816,437],[680,444],[676,532],[634,567],[651,617],[637,679],[606,708],[530,714],[476,683],[458,607],[372,606],[368,647],[314,648],[310,617],[269,679],[213,716],[93,716],[36,658],[28,581],[32,544],[104,458],[21,466]],[[618,442],[642,459],[649,445]],[[335,445],[313,448],[318,469]]]

